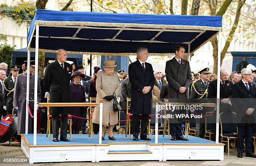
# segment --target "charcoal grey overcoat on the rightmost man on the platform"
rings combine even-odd
[[[169,84],[169,102],[174,101],[174,99],[175,102],[186,102],[188,99],[189,85],[192,80],[189,62],[181,59],[179,64],[174,57],[166,62],[165,74]],[[184,93],[180,93],[180,87],[187,87],[187,90]]]

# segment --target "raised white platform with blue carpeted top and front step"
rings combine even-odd
[[[68,136],[69,137],[69,136]],[[68,161],[136,161],[136,160],[224,160],[224,144],[189,136],[189,141],[171,141],[168,136],[158,136],[158,144],[151,141],[133,141],[124,134],[114,135],[116,141],[98,142],[98,135],[90,139],[87,134],[72,134],[69,142],[53,142],[45,134],[37,134],[37,145],[33,145],[33,134],[22,134],[21,149],[29,163]]]

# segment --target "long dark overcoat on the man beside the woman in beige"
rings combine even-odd
[[[131,82],[131,110],[132,114],[151,114],[152,89],[155,84],[153,68],[150,63],[145,62],[146,72],[137,60],[129,65],[128,74]],[[144,87],[150,86],[147,94],[143,94]]]

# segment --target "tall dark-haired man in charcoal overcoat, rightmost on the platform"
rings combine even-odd
[[[165,67],[166,79],[169,84],[169,102],[187,102],[188,89],[192,80],[189,62],[182,59],[185,53],[183,46],[175,47],[174,52],[175,57],[167,61]],[[184,111],[175,110],[174,113],[184,114]],[[187,141],[187,139],[182,136],[181,125],[181,119],[171,119],[171,140],[176,141],[179,139]]]

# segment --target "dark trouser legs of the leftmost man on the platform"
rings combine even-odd
[[[59,115],[52,115],[52,133],[53,137],[59,137]],[[67,138],[67,115],[61,115],[60,138]]]

